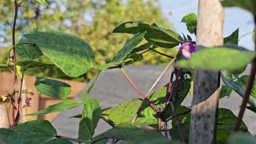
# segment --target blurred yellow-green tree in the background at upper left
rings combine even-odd
[[[89,43],[95,53],[95,66],[111,62],[115,54],[122,49],[132,35],[113,34],[115,27],[126,21],[143,21],[145,23],[158,22],[171,28],[170,23],[163,16],[157,0],[59,0],[46,1],[50,7],[36,1],[25,1],[19,8],[17,20],[17,39],[26,33],[28,27],[36,23],[40,31],[65,31],[74,34]],[[11,1],[0,2],[0,42],[5,47],[11,44],[12,21],[14,7]],[[146,41],[145,41],[146,42]],[[177,49],[157,49],[159,52],[175,55]],[[135,64],[164,64],[169,58],[147,52],[144,60]],[[41,57],[39,61],[50,62]],[[92,73],[78,78],[66,76],[57,67],[37,68],[28,70],[26,74],[39,74],[55,78],[86,81],[92,78]]]

